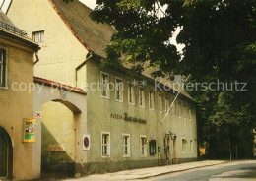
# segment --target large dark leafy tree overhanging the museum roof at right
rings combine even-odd
[[[255,0],[97,0],[97,4],[92,18],[117,30],[106,47],[104,65],[128,62],[138,72],[146,65],[158,67],[153,76],[191,74],[192,83],[239,83],[240,91],[188,92],[198,101],[202,142],[228,138],[231,148],[242,139],[241,133],[251,136],[256,117]],[[182,56],[169,42],[177,27],[181,27],[177,42],[185,44]],[[241,83],[246,83],[247,91],[241,91]]]

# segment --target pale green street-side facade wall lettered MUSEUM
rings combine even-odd
[[[91,150],[88,152],[88,163],[90,171],[100,171],[108,163],[109,168],[106,170],[118,170],[143,166],[154,166],[167,164],[166,147],[167,135],[169,131],[176,134],[176,157],[178,162],[196,160],[197,158],[197,132],[196,132],[196,113],[194,101],[188,97],[180,95],[174,103],[172,110],[161,124],[166,107],[169,107],[171,101],[176,94],[172,91],[154,91],[154,109],[149,108],[149,91],[154,90],[155,81],[147,77],[142,79],[133,78],[125,73],[125,71],[102,71],[93,59],[89,60],[87,66],[87,83],[100,83],[100,75],[106,73],[109,75],[109,83],[115,83],[116,78],[122,79],[124,84],[123,100],[116,100],[116,91],[109,91],[109,96],[102,97],[101,90],[97,88],[87,90],[87,120],[88,133],[91,136]],[[128,85],[129,81],[138,80],[138,86],[134,87],[135,102],[128,102]],[[139,105],[139,89],[140,81],[146,80],[145,90],[145,106]],[[93,87],[93,86],[92,86]],[[94,88],[94,87],[93,87]],[[100,86],[99,86],[100,88]],[[162,95],[162,111],[160,111],[159,93]],[[168,106],[165,107],[165,98],[168,98]],[[178,103],[181,106],[181,116],[177,116]],[[191,119],[189,119],[189,111],[191,109]],[[187,111],[187,112],[186,112]],[[147,121],[146,124],[125,121],[125,113],[129,117],[136,117]],[[114,114],[114,115],[113,115]],[[117,114],[117,115],[116,115]],[[102,156],[101,134],[107,132],[110,134],[110,155]],[[123,135],[130,136],[130,155],[123,155]],[[146,156],[141,154],[140,136],[146,136],[151,140],[156,140],[156,149],[160,147],[160,151],[150,155],[149,144],[146,144]],[[182,139],[187,140],[182,151]],[[164,146],[165,140],[165,146]],[[192,140],[190,146],[190,140]],[[191,149],[191,148],[192,149]],[[164,151],[165,149],[165,151]],[[174,157],[173,157],[174,158]],[[170,158],[171,159],[171,158]],[[118,164],[116,164],[118,161]],[[170,161],[171,162],[171,161]],[[103,163],[103,164],[99,164]],[[101,165],[102,167],[100,167]]]

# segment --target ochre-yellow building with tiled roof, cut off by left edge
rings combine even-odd
[[[24,125],[24,119],[32,118],[33,93],[28,86],[33,79],[33,55],[38,49],[26,32],[0,11],[0,180],[40,176],[40,155],[35,153],[40,144],[25,140]],[[32,129],[28,132],[34,133]]]

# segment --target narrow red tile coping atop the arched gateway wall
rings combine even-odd
[[[51,87],[54,87],[54,88],[65,90],[65,91],[73,91],[73,92],[80,93],[80,94],[87,94],[86,91],[84,91],[80,88],[75,88],[75,87],[71,87],[71,86],[68,86],[68,85],[63,85],[63,84],[60,84],[60,83],[57,83],[57,82],[54,82],[54,81],[50,81],[50,80],[43,79],[43,78],[38,78],[38,77],[35,77],[35,76],[33,77],[33,82],[43,84],[43,85],[46,85],[46,86],[51,86]]]

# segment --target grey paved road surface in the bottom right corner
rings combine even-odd
[[[256,160],[224,163],[170,173],[147,179],[151,181],[256,181]]]

